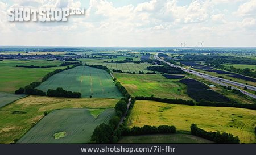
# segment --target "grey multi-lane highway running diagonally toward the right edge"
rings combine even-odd
[[[236,89],[236,90],[240,90],[243,94],[249,96],[249,97],[252,97],[252,98],[256,98],[256,95],[254,94],[251,94],[251,93],[248,93],[247,91],[244,91],[242,89],[238,89],[237,87],[247,87],[247,89],[250,89],[250,90],[253,90],[253,91],[256,91],[256,87],[254,86],[250,86],[250,85],[245,85],[243,83],[239,83],[239,82],[234,82],[234,81],[230,81],[228,79],[222,79],[222,78],[218,78],[218,77],[214,77],[214,76],[210,76],[208,74],[204,74],[204,73],[201,73],[201,72],[197,72],[195,70],[191,70],[191,69],[186,69],[186,68],[183,68],[181,66],[176,66],[174,64],[171,64],[170,62],[166,62],[164,60],[162,60],[161,58],[158,57],[158,54],[156,54],[154,56],[154,58],[156,60],[159,60],[159,61],[162,61],[172,67],[177,67],[177,68],[181,68],[184,72],[188,72],[188,73],[191,73],[191,74],[194,74],[196,76],[199,76],[201,78],[204,78],[204,79],[207,79],[208,81],[212,81],[214,83],[217,83],[218,85],[221,85],[221,86],[231,86],[232,89]],[[237,87],[233,87],[233,86],[237,86]]]

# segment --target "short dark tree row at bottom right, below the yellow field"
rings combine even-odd
[[[198,128],[196,124],[192,124],[190,128],[192,135],[203,137],[216,143],[240,143],[239,138],[230,133],[207,132],[204,129]]]

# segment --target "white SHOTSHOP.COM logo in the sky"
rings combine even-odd
[[[84,8],[10,8],[7,10],[10,22],[66,22],[69,15],[84,15]]]

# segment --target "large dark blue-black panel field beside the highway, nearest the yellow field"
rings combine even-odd
[[[200,102],[201,99],[211,102],[230,102],[229,98],[214,90],[209,90],[208,86],[195,79],[182,79],[180,82],[187,85],[187,94],[197,102]]]

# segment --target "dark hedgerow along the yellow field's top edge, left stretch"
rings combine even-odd
[[[185,104],[189,106],[194,106],[193,100],[183,100],[183,99],[168,99],[168,98],[156,98],[153,95],[151,97],[136,97],[136,100],[154,100],[157,102],[170,103],[170,104]]]

